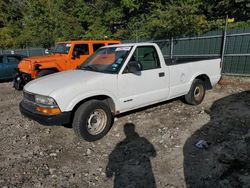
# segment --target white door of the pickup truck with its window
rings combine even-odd
[[[123,110],[168,98],[169,75],[162,68],[154,46],[139,46],[130,61],[138,61],[142,71],[136,75],[125,69],[118,75],[119,98]]]

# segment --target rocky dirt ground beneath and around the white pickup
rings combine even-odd
[[[0,187],[250,187],[250,78],[221,84],[199,106],[125,114],[86,142],[24,118],[22,92],[0,83]]]

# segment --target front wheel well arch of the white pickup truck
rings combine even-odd
[[[105,102],[109,107],[110,107],[110,110],[112,112],[112,114],[115,114],[115,103],[113,101],[112,98],[110,98],[109,96],[106,96],[106,95],[97,95],[97,96],[93,96],[93,97],[89,97],[89,98],[86,98],[80,102],[78,102],[73,110],[72,110],[72,118],[75,114],[75,111],[77,110],[77,108],[82,105],[83,103],[85,103],[86,101],[89,101],[89,100],[100,100],[100,101],[103,101]]]

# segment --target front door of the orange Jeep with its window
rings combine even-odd
[[[78,65],[82,64],[90,56],[89,44],[75,44],[70,68],[75,69]]]

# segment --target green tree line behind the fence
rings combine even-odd
[[[0,0],[0,48],[165,39],[250,26],[249,0]]]

